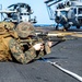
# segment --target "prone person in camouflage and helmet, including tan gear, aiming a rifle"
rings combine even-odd
[[[39,38],[33,38],[34,27],[31,23],[20,23],[15,31],[8,23],[1,23],[4,30],[0,36],[0,61],[17,61],[20,63],[28,63],[34,59],[38,59],[50,52],[51,42],[44,42]],[[17,34],[16,34],[17,33]],[[7,36],[8,34],[8,36]]]

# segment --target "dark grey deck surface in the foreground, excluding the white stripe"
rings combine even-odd
[[[82,38],[66,40],[51,48],[44,58],[82,77]],[[43,60],[28,65],[0,62],[0,82],[79,82]]]

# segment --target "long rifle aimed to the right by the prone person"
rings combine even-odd
[[[36,35],[32,35],[30,37],[31,39],[20,39],[21,45],[26,45],[27,43],[31,43],[30,45],[33,45],[35,44],[35,42],[42,43],[43,39],[44,40],[43,45],[45,45],[46,42],[57,42],[52,45],[56,46],[61,42],[75,39],[74,37],[66,37],[61,34],[49,34],[49,33],[36,33]]]

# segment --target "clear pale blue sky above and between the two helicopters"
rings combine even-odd
[[[34,11],[33,16],[36,16],[37,24],[54,24],[55,22],[49,20],[45,0],[0,0],[0,4],[2,4],[2,9],[7,9],[7,7],[17,3],[25,2],[31,5]]]

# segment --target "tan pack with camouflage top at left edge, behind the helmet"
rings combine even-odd
[[[9,42],[11,38],[17,38],[15,31],[13,31],[14,24],[11,22],[0,22],[0,61],[12,60]]]

